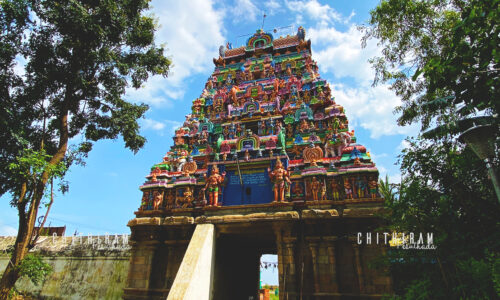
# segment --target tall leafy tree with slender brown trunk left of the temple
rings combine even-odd
[[[144,145],[137,119],[147,106],[123,95],[170,66],[148,8],[148,0],[0,0],[0,195],[10,193],[19,213],[0,299],[21,275],[46,186],[98,140],[122,136],[134,152]],[[19,58],[24,74],[15,72]],[[77,135],[83,142],[69,146]]]

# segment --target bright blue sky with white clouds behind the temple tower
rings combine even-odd
[[[241,46],[248,35],[261,27],[276,34],[295,34],[306,29],[312,41],[313,58],[321,76],[330,82],[332,95],[346,108],[358,141],[370,151],[381,176],[399,178],[396,156],[407,135],[416,127],[398,127],[393,109],[400,100],[386,85],[372,87],[373,71],[367,59],[380,53],[376,41],[361,48],[362,34],[356,29],[366,23],[378,1],[210,1],[153,0],[151,12],[160,26],[158,44],[166,44],[173,61],[169,78],[154,77],[140,90],[129,90],[127,98],[150,105],[140,120],[148,139],[136,155],[121,140],[101,141],[90,153],[85,167],[75,166],[67,176],[69,192],[57,195],[48,222],[67,226],[67,234],[128,233],[127,221],[140,204],[139,185],[150,166],[161,161],[172,145],[175,127],[189,113],[212,73],[212,58],[218,47],[231,42]],[[246,35],[246,36],[243,36]],[[74,141],[78,142],[78,140]],[[47,224],[48,225],[48,224]],[[0,202],[0,235],[15,234],[17,212]]]

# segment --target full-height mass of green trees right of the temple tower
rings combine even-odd
[[[363,27],[378,40],[374,85],[401,97],[401,126],[420,123],[400,156],[402,182],[381,182],[390,229],[432,232],[437,249],[391,249],[404,299],[498,297],[500,207],[486,167],[457,135],[492,124],[498,136],[498,0],[383,0]],[[496,147],[499,146],[498,140]],[[498,168],[499,158],[493,158]]]

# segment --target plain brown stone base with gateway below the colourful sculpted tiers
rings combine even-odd
[[[380,199],[379,199],[380,200]],[[211,299],[258,299],[259,259],[277,254],[280,299],[373,299],[392,292],[371,262],[388,245],[359,245],[382,224],[380,202],[231,207],[138,217],[124,299],[166,299],[197,224],[213,224]],[[192,283],[191,283],[192,284]],[[169,298],[170,299],[170,298]]]

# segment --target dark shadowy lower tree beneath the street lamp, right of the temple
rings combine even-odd
[[[402,182],[384,194],[390,231],[433,233],[435,250],[385,258],[404,299],[494,299],[500,293],[500,207],[486,166],[451,139],[408,140]],[[381,188],[381,190],[383,190]],[[496,266],[496,267],[495,267]]]

